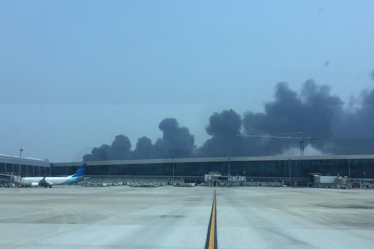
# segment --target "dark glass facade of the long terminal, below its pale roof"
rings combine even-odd
[[[229,166],[230,164],[230,166]],[[21,167],[22,168],[22,167]],[[52,175],[72,175],[79,166],[54,166]],[[175,162],[174,176],[197,177],[208,172],[248,177],[309,178],[310,174],[349,176],[347,159],[305,159],[274,161]],[[172,176],[172,163],[87,165],[85,175]],[[351,159],[351,178],[374,178],[374,159]]]

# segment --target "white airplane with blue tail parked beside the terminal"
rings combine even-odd
[[[22,177],[21,185],[31,187],[52,187],[52,185],[65,185],[70,183],[77,183],[89,177],[83,177],[86,170],[86,164],[82,164],[79,169],[73,174],[65,177]]]

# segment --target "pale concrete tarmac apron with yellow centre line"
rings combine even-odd
[[[0,189],[1,249],[373,248],[374,190],[128,186]]]

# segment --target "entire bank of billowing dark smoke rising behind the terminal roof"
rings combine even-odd
[[[313,80],[307,80],[300,91],[279,82],[274,100],[265,104],[264,112],[247,111],[240,116],[230,109],[213,113],[205,127],[211,138],[201,147],[194,144],[194,136],[177,119],[165,118],[159,124],[162,138],[155,143],[141,137],[131,150],[129,138],[118,135],[111,146],[93,148],[83,161],[277,155],[298,147],[298,140],[235,135],[298,131],[316,137],[312,146],[322,153],[374,154],[374,88],[352,97],[348,107],[330,91],[327,85]]]

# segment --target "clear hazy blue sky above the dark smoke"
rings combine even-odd
[[[0,152],[71,161],[117,134],[200,145],[214,111],[262,111],[278,81],[371,88],[374,1],[0,0]],[[324,63],[328,61],[329,65]],[[80,155],[82,154],[82,155]]]

